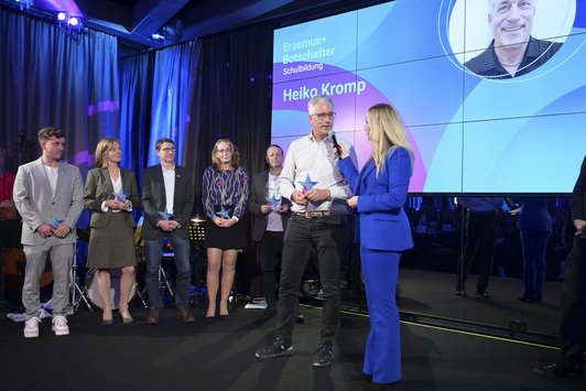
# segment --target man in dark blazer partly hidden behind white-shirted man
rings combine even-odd
[[[252,215],[252,240],[257,242],[262,287],[267,298],[263,318],[270,318],[276,309],[275,261],[283,250],[291,202],[279,193],[279,176],[283,170],[283,149],[271,144],[267,148],[269,170],[252,177],[248,211]]]

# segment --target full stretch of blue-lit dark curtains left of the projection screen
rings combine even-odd
[[[257,25],[119,61],[113,36],[90,30],[75,41],[46,21],[0,9],[0,145],[15,166],[19,132],[29,145],[23,163],[40,154],[39,129],[56,126],[66,132],[67,161],[85,173],[99,139],[117,137],[122,165],[140,181],[158,161],[155,140],[169,137],[199,196],[214,142],[229,138],[253,174],[264,169],[270,143],[272,32]]]

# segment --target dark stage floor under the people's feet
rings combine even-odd
[[[50,319],[39,338],[24,339],[22,323],[0,322],[0,373],[7,390],[360,390],[348,376],[361,370],[369,318],[345,313],[330,368],[311,366],[319,334],[321,308],[303,307],[295,326],[295,354],[259,360],[274,321],[261,309],[232,309],[229,322],[181,324],[165,308],[159,325],[101,326],[99,312],[69,316],[72,334],[56,337]],[[438,327],[403,323],[403,390],[584,390],[584,379],[543,379],[531,372],[557,356],[551,347],[510,341]]]

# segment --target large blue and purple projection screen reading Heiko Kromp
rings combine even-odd
[[[415,153],[412,194],[571,193],[586,152],[586,1],[528,2],[534,14],[503,29],[540,51],[514,77],[484,69],[502,28],[489,0],[397,0],[276,30],[272,141],[286,152],[308,134],[307,101],[326,94],[361,166],[366,111],[388,102]]]

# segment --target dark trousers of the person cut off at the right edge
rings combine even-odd
[[[562,287],[560,339],[565,367],[583,369],[586,337],[586,239],[575,238]]]

